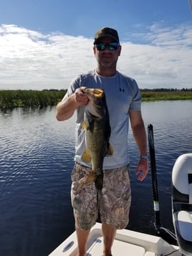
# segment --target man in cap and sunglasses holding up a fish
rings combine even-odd
[[[140,111],[141,95],[135,80],[117,72],[120,56],[120,40],[115,29],[102,28],[95,33],[93,52],[97,68],[79,75],[72,81],[56,110],[57,120],[67,120],[77,110],[75,134],[75,167],[72,171],[72,206],[77,232],[77,256],[86,255],[86,243],[91,227],[100,211],[104,239],[103,255],[112,255],[112,243],[116,229],[123,229],[129,221],[130,179],[128,157],[129,120],[133,136],[140,151],[136,175],[143,181],[148,174],[148,155],[145,126]],[[85,184],[83,179],[91,166],[82,161],[85,150],[85,131],[81,129],[88,98],[82,92],[85,87],[103,88],[110,114],[110,144],[113,155],[104,158],[103,188],[97,191],[95,183]],[[75,255],[76,256],[76,255]]]

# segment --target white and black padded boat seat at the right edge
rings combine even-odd
[[[172,207],[178,246],[192,255],[192,153],[179,156],[173,166]]]

